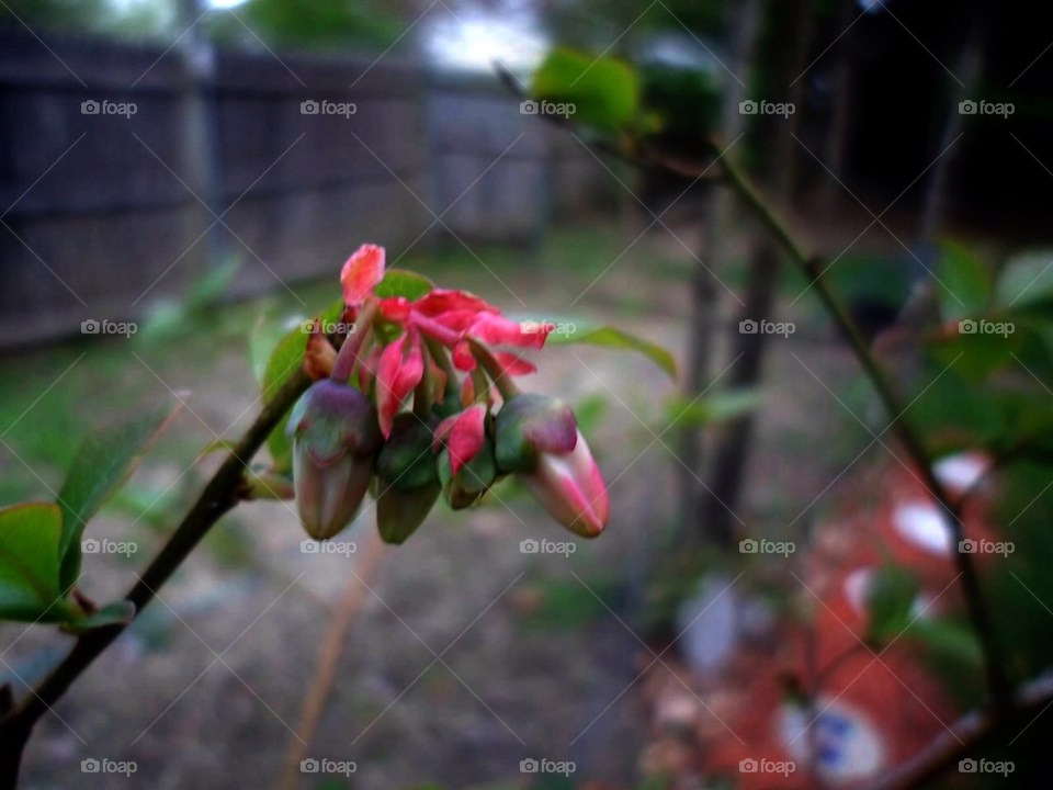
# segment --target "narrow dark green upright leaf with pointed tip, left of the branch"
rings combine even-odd
[[[171,397],[159,408],[92,431],[84,439],[58,493],[64,589],[80,574],[80,539],[86,523],[127,482],[181,406],[178,397]]]

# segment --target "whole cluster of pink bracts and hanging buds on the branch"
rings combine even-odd
[[[316,320],[307,341],[316,382],[286,431],[308,533],[340,532],[372,488],[382,538],[401,543],[440,495],[462,509],[517,474],[559,523],[598,535],[607,488],[573,410],[521,394],[512,377],[536,368],[492,348],[541,349],[546,327],[507,318],[466,291],[389,295],[384,279],[384,249],[360,247],[340,273],[354,331],[335,338],[337,350]]]

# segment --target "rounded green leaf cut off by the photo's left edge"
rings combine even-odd
[[[58,585],[58,542],[63,514],[49,503],[24,503],[0,510],[0,620],[54,622],[66,614],[53,606]],[[47,612],[45,614],[45,612]]]

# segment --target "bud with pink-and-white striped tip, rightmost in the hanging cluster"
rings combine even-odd
[[[518,474],[556,521],[582,538],[603,531],[607,487],[568,405],[517,395],[498,413],[495,437],[498,469]]]

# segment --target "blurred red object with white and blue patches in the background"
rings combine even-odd
[[[975,494],[962,520],[976,541],[996,539],[985,493],[973,488],[988,465],[962,453],[933,469],[952,497]],[[743,790],[796,790],[813,787],[814,766],[826,785],[848,787],[909,758],[953,721],[958,711],[907,636],[863,644],[868,586],[885,563],[915,577],[918,618],[961,606],[952,517],[919,477],[898,463],[880,471],[816,530],[801,579],[803,600],[814,607],[811,628],[782,624],[774,651],[737,645],[713,711],[723,723],[703,727],[703,774],[731,776]],[[818,692],[809,709],[797,685],[808,682],[811,666]],[[790,763],[792,772],[778,771]]]

